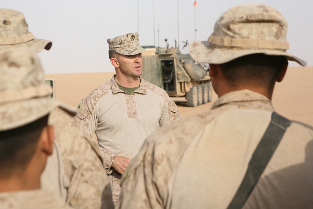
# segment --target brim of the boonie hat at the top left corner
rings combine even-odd
[[[10,45],[0,45],[0,49],[8,49],[13,47],[26,47],[31,49],[35,53],[40,52],[41,50],[49,50],[52,46],[52,42],[44,39],[33,39],[20,44],[10,44]]]

